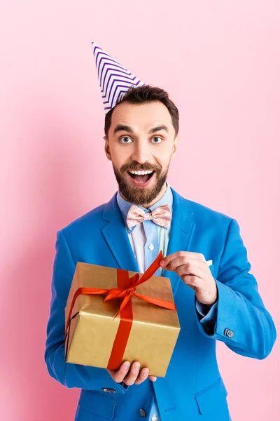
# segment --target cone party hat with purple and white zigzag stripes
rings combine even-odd
[[[113,60],[97,44],[92,42],[93,54],[97,66],[99,84],[102,93],[105,113],[115,107],[128,91],[130,86],[144,86],[132,72]]]

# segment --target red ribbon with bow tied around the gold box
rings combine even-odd
[[[75,305],[76,299],[78,298],[79,295],[104,294],[106,295],[104,302],[109,301],[109,300],[116,300],[116,298],[119,298],[121,300],[120,309],[118,313],[116,314],[116,316],[120,314],[120,324],[118,326],[118,331],[113,343],[111,356],[110,356],[109,363],[107,366],[109,370],[118,370],[118,368],[120,367],[120,364],[123,362],[123,355],[125,353],[125,347],[127,346],[127,340],[130,336],[130,330],[132,328],[132,323],[133,323],[132,301],[131,301],[132,295],[146,302],[150,302],[153,305],[157,305],[158,307],[163,307],[165,309],[176,311],[176,307],[173,302],[160,300],[159,298],[148,297],[147,295],[141,295],[135,292],[137,286],[141,285],[141,283],[148,281],[148,279],[150,279],[151,276],[153,276],[153,274],[158,270],[158,268],[160,267],[160,260],[162,260],[162,257],[163,257],[162,251],[160,251],[160,254],[158,255],[158,257],[154,260],[152,265],[148,267],[148,269],[141,276],[141,278],[139,274],[135,274],[134,276],[130,278],[127,270],[117,269],[118,288],[111,288],[110,290],[102,289],[102,288],[83,288],[83,287],[78,288],[71,302],[68,319],[66,322],[65,338],[67,335],[67,330],[69,328],[72,310]],[[114,319],[116,318],[116,316],[114,317]]]

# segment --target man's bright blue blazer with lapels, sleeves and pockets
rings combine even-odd
[[[142,420],[145,414],[148,419],[153,396],[162,421],[230,420],[227,391],[216,361],[216,340],[237,354],[256,359],[264,359],[272,350],[276,330],[255,277],[249,273],[251,265],[237,221],[184,199],[174,189],[172,193],[174,211],[167,254],[188,250],[213,260],[211,271],[218,287],[214,328],[211,333],[204,330],[195,309],[194,291],[175,272],[165,271],[164,276],[172,282],[181,324],[165,378],[123,387],[103,368],[66,363],[64,307],[76,263],[139,272],[116,194],[109,203],[71,222],[57,232],[45,362],[55,380],[82,389],[76,421],[134,421]]]

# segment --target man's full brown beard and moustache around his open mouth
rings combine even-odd
[[[170,164],[170,160],[169,160]],[[132,163],[125,163],[123,166],[120,167],[118,170],[113,165],[113,171],[118,182],[118,187],[120,189],[120,193],[125,198],[125,200],[129,201],[130,203],[134,203],[136,205],[144,206],[148,203],[151,203],[155,200],[155,198],[160,194],[162,191],[162,187],[165,185],[167,181],[167,173],[169,170],[169,164],[167,169],[162,173],[161,166],[151,165],[149,163],[144,163],[139,165],[136,161]],[[154,180],[152,181],[153,186],[150,187],[135,187],[132,185],[130,180],[127,177],[127,171],[155,171],[153,174]]]

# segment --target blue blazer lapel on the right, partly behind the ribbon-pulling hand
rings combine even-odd
[[[180,196],[172,189],[173,193],[173,210],[172,223],[170,229],[170,238],[167,248],[167,255],[176,253],[177,251],[188,251],[190,242],[193,238],[195,230],[195,222],[190,220],[193,210],[186,199]],[[163,276],[167,276],[171,283],[173,293],[175,295],[179,285],[180,278],[175,272],[167,270],[163,271]]]

